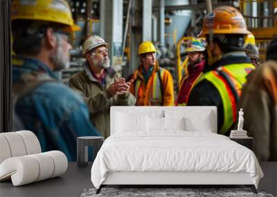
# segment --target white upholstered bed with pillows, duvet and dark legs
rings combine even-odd
[[[105,185],[250,185],[263,173],[254,153],[216,134],[213,106],[112,106],[111,136],[91,168]],[[255,187],[254,187],[255,186]]]

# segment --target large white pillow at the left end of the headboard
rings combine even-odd
[[[147,131],[146,115],[117,113],[116,132]]]

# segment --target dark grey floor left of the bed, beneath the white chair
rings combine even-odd
[[[62,176],[19,187],[13,187],[10,180],[0,182],[0,196],[80,196],[84,189],[93,187],[91,165],[80,168],[76,162],[69,162]]]

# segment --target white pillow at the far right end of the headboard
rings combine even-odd
[[[201,124],[199,124],[201,122]],[[197,118],[187,117],[185,118],[185,130],[186,131],[200,131],[212,133],[211,115],[199,116]]]

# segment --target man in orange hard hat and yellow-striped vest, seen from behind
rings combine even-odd
[[[215,8],[204,19],[200,37],[206,37],[207,64],[190,91],[188,106],[217,106],[217,133],[223,135],[229,135],[237,120],[242,85],[255,68],[243,48],[249,33],[241,13],[231,6]]]

